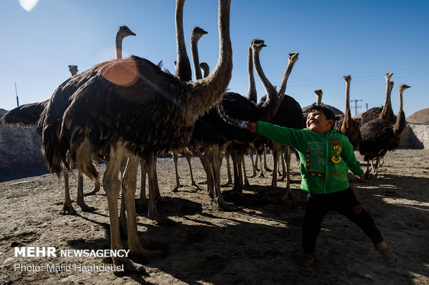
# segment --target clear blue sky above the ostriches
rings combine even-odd
[[[39,0],[27,11],[20,2],[28,1],[1,1],[0,108],[17,106],[15,83],[19,104],[44,101],[70,76],[69,64],[82,72],[113,59],[115,32],[122,24],[137,34],[124,39],[124,57],[162,59],[174,73],[174,0]],[[232,0],[229,88],[246,96],[248,44],[259,38],[267,46],[260,53],[262,67],[273,85],[280,85],[288,53],[300,53],[286,94],[302,107],[316,101],[314,90],[322,89],[322,101],[344,111],[344,75],[352,76],[350,99],[363,100],[358,112],[366,105],[382,106],[384,76],[393,72],[395,114],[398,86],[412,86],[404,92],[408,117],[429,107],[428,15],[428,0]],[[217,1],[186,1],[183,24],[189,56],[191,29],[208,31],[199,41],[199,58],[215,68]],[[258,98],[264,95],[259,79],[257,91]]]

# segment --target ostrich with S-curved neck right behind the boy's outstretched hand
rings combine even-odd
[[[258,75],[261,75],[270,100],[267,100],[264,106],[258,107],[237,93],[226,92],[217,108],[212,108],[208,114],[197,121],[192,134],[191,143],[201,146],[204,150],[203,157],[207,162],[205,170],[208,179],[208,194],[219,207],[225,210],[235,210],[237,207],[226,203],[220,192],[220,168],[223,152],[231,141],[248,144],[255,139],[253,133],[243,128],[242,119],[269,119],[278,105],[277,92],[271,84],[268,86],[269,81],[264,77],[262,68],[260,68],[259,51],[264,46],[263,41],[255,40],[254,43],[255,54],[253,57],[257,59],[255,65],[259,64],[257,72],[259,72]],[[233,111],[231,112],[230,109]],[[239,114],[237,109],[239,109]],[[230,122],[232,124],[229,124]]]

